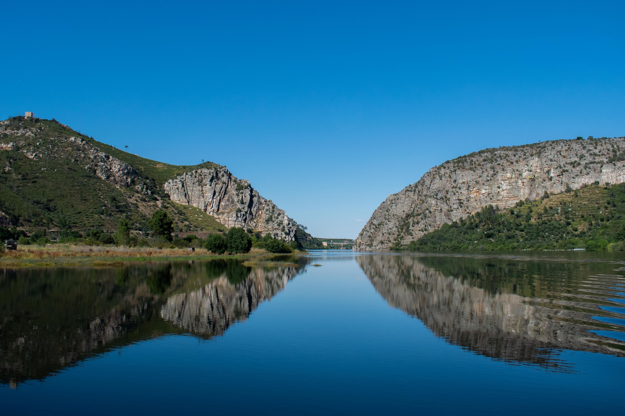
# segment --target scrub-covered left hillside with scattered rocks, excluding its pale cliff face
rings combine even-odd
[[[0,211],[14,227],[4,238],[133,246],[141,240],[137,232],[169,241],[176,232],[226,232],[214,216],[172,201],[164,188],[184,172],[216,167],[170,165],[97,142],[54,119],[11,117],[0,121]],[[155,212],[171,219],[164,233],[149,221]],[[133,233],[116,239],[122,218]],[[298,241],[312,238],[305,229],[297,230]]]

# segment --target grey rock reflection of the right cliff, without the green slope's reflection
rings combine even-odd
[[[357,256],[356,261],[386,301],[420,319],[452,344],[495,359],[557,367],[550,349],[625,356],[604,344],[586,322],[597,309],[567,299],[491,293],[425,266],[415,256]],[[569,288],[571,291],[574,289]]]

